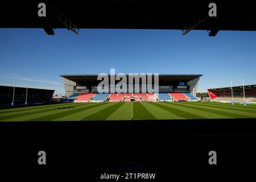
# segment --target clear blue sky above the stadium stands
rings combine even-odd
[[[80,30],[0,28],[0,85],[55,89],[64,95],[60,74],[203,74],[207,88],[256,84],[256,32],[181,30]]]

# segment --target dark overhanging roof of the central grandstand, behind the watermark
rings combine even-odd
[[[98,82],[98,75],[60,75],[63,78],[75,82]],[[110,76],[110,75],[108,75]],[[199,75],[159,75],[159,82],[190,81],[203,76]],[[154,79],[152,80],[154,81]]]

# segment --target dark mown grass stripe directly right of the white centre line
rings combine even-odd
[[[133,103],[133,119],[156,119],[156,118],[141,103],[134,102]]]

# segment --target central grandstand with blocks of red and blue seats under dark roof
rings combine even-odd
[[[133,92],[127,90],[126,93],[99,93],[98,84],[102,80],[98,80],[98,75],[60,75],[64,80],[64,87],[68,100],[75,102],[98,102],[98,101],[197,101],[197,88],[199,86],[200,77],[203,75],[159,75],[158,76],[158,93],[142,93],[142,82],[139,85],[127,85],[133,87]],[[120,80],[111,83],[109,77],[109,87],[113,87]],[[114,75],[115,77],[117,75]],[[127,77],[129,75],[126,75]],[[148,80],[148,75],[146,76]],[[150,86],[155,88],[154,78],[151,79]],[[127,81],[128,82],[128,81]],[[148,83],[148,82],[146,82]],[[147,85],[148,86],[148,85]],[[135,92],[135,90],[139,92]],[[109,89],[112,90],[112,89]]]

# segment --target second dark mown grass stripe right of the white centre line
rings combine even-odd
[[[179,117],[182,117],[184,119],[205,119],[205,117],[202,117],[200,115],[192,114],[184,110],[176,109],[174,107],[163,105],[162,102],[151,102],[151,104],[158,106],[164,110],[169,111],[170,113],[173,113],[175,115],[179,115]]]

